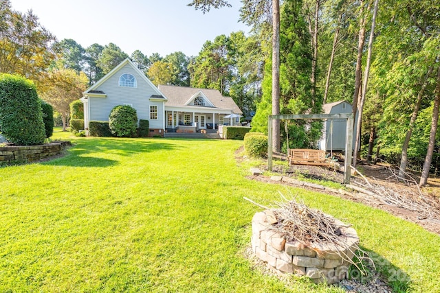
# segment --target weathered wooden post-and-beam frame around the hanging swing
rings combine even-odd
[[[344,184],[350,184],[351,152],[353,150],[353,113],[340,114],[311,114],[311,115],[269,115],[267,121],[267,169],[272,171],[272,121],[274,120],[334,120],[347,119],[344,160]]]

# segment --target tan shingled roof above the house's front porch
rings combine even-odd
[[[213,108],[232,110],[232,112],[241,114],[239,106],[236,106],[232,97],[224,97],[221,95],[220,91],[214,89],[197,89],[187,86],[168,86],[164,84],[159,84],[159,91],[164,93],[165,97],[168,98],[166,106],[182,107],[186,106],[188,102],[197,97],[197,94],[203,93],[204,97],[208,99]],[[202,95],[202,96],[203,96]],[[205,107],[205,108],[210,108]]]

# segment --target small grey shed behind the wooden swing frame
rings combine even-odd
[[[333,102],[322,105],[324,114],[352,113],[353,107],[345,101]],[[356,113],[355,125],[358,121]],[[322,137],[318,142],[320,150],[340,152],[345,150],[345,141],[347,133],[347,119],[327,120],[322,128]],[[353,132],[354,134],[355,132]],[[355,135],[353,135],[353,149],[355,145]]]

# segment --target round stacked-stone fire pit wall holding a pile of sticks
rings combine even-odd
[[[307,276],[314,283],[331,284],[347,279],[350,266],[347,260],[353,258],[359,243],[355,229],[341,228],[340,237],[346,241],[346,248],[318,244],[306,247],[297,241],[286,242],[280,234],[268,230],[271,216],[266,213],[256,213],[252,218],[252,250],[268,268],[281,275]],[[339,220],[336,222],[343,225]]]

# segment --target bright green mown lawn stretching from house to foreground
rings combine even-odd
[[[401,292],[438,292],[438,235],[362,204],[247,180],[234,159],[242,141],[70,139],[63,158],[0,169],[0,292],[342,292],[286,288],[243,257],[259,211],[243,196],[278,199],[278,190],[353,223]]]

